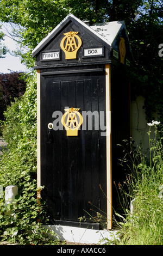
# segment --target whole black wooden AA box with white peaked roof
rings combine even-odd
[[[125,179],[117,144],[130,137],[125,70],[131,51],[124,22],[88,26],[69,14],[33,57],[37,187],[44,187],[38,196],[53,224],[111,229],[117,197],[112,182]]]

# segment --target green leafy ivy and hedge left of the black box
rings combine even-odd
[[[37,200],[36,182],[36,82],[27,78],[27,91],[12,102],[5,112],[3,136],[8,142],[1,157],[0,184],[17,185],[18,195],[13,203],[0,205],[0,240],[19,244],[56,244],[45,230],[46,207]],[[11,212],[12,214],[6,214]],[[40,220],[40,223],[37,220]],[[53,234],[55,235],[55,234]]]

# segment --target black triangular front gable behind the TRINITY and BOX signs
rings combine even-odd
[[[89,27],[88,27],[89,28]],[[64,34],[70,31],[79,32],[79,36],[82,40],[82,46],[79,48],[77,52],[76,59],[65,59],[65,53],[63,51],[60,52],[60,59],[55,60],[43,60],[42,61],[42,52],[45,51],[53,51],[60,49],[60,42],[64,37]],[[86,58],[83,56],[83,48],[86,47],[104,47],[104,54],[103,56],[97,57],[89,57]],[[74,64],[82,64],[86,65],[89,63],[95,64],[97,62],[110,62],[110,45],[107,44],[104,40],[100,37],[96,36],[93,31],[91,32],[87,27],[82,26],[74,19],[68,19],[65,24],[63,23],[62,26],[59,28],[57,33],[54,33],[53,37],[46,42],[46,44],[42,44],[41,48],[37,49],[36,55],[36,64],[37,69],[41,69],[45,66],[64,66],[64,65],[74,65]],[[36,67],[35,67],[36,68]]]

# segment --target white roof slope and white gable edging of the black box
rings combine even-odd
[[[62,20],[59,23],[57,27],[55,27],[44,39],[42,39],[41,42],[39,42],[39,44],[32,51],[33,56],[35,56],[35,52],[39,50],[42,44],[48,41],[48,39],[53,35],[55,31],[57,31],[57,29],[62,25],[62,23],[64,23],[68,19],[68,17],[72,17],[74,20],[78,21],[83,27],[85,27],[91,33],[98,36],[98,38],[102,39],[106,44],[110,46],[112,45],[112,42],[116,38],[116,35],[120,31],[120,28],[124,23],[123,21],[114,21],[114,22],[107,22],[107,23],[99,23],[89,27],[83,21],[79,20],[76,16],[70,13],[65,17],[64,20]],[[108,29],[109,29],[109,34],[107,34]],[[102,32],[105,32],[105,33],[102,33]]]

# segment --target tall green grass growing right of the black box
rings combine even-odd
[[[149,125],[149,158],[141,151],[129,154],[126,162],[130,174],[123,185],[117,186],[124,214],[117,225],[120,240],[117,245],[162,245],[163,220],[163,150],[158,122]],[[151,126],[155,127],[155,138],[151,139]],[[132,156],[131,156],[132,155]],[[132,201],[133,211],[130,211]]]

